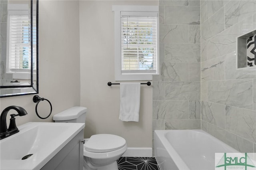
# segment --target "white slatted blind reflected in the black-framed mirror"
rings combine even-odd
[[[9,70],[31,69],[30,20],[28,15],[9,16]]]

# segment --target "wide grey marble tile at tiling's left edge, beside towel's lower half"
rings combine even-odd
[[[188,101],[153,101],[153,119],[188,119]]]

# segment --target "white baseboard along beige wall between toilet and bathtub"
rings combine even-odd
[[[152,157],[152,148],[128,147],[122,156],[126,157]]]

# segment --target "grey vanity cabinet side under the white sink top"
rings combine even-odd
[[[66,144],[41,170],[83,170],[84,129]]]

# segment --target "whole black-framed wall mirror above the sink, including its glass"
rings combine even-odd
[[[0,97],[38,93],[38,0],[0,0]]]

